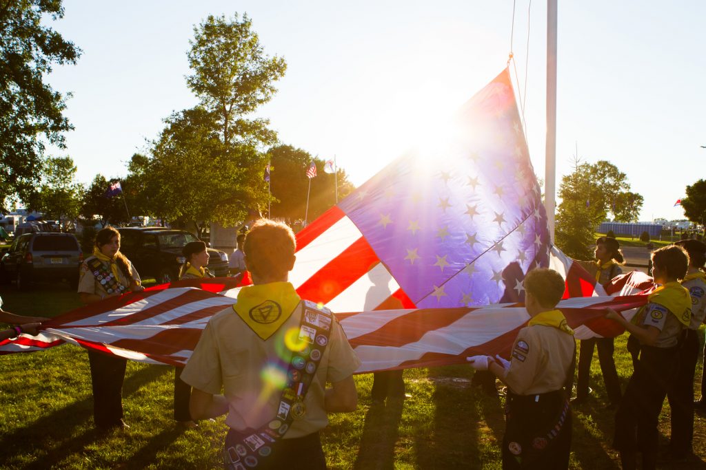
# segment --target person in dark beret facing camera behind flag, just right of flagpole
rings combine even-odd
[[[606,285],[611,279],[623,273],[623,253],[620,243],[613,237],[599,237],[594,251],[595,261],[578,261],[590,274],[596,277],[596,282]],[[613,358],[615,338],[588,338],[581,340],[578,356],[578,373],[576,379],[576,397],[571,404],[576,406],[584,403],[589,394],[589,378],[594,347],[598,349],[598,361],[601,364],[603,382],[610,401],[609,408],[618,406],[621,398],[618,370]]]

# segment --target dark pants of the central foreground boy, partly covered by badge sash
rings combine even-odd
[[[239,433],[230,429],[225,436],[225,446],[223,448],[223,467],[226,470],[249,469],[244,459],[248,457],[237,454],[236,448],[241,443],[243,435],[252,433]],[[269,454],[263,457],[263,447],[269,447]],[[325,470],[326,457],[323,455],[321,439],[318,433],[305,435],[303,438],[280,439],[275,443],[266,443],[258,448],[250,458],[257,459],[256,469],[258,470]],[[238,461],[239,459],[239,461]],[[237,462],[232,462],[236,460]]]

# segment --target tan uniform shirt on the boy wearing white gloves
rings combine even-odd
[[[554,326],[525,326],[517,333],[505,383],[516,395],[554,392],[566,383],[573,335]]]

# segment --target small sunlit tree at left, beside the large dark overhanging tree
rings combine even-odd
[[[49,158],[43,173],[42,184],[25,199],[28,208],[43,212],[49,219],[76,218],[85,189],[76,182],[73,159],[69,156]]]

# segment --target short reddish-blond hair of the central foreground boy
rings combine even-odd
[[[288,225],[261,218],[245,236],[248,268],[258,276],[282,277],[291,268],[297,239]]]

